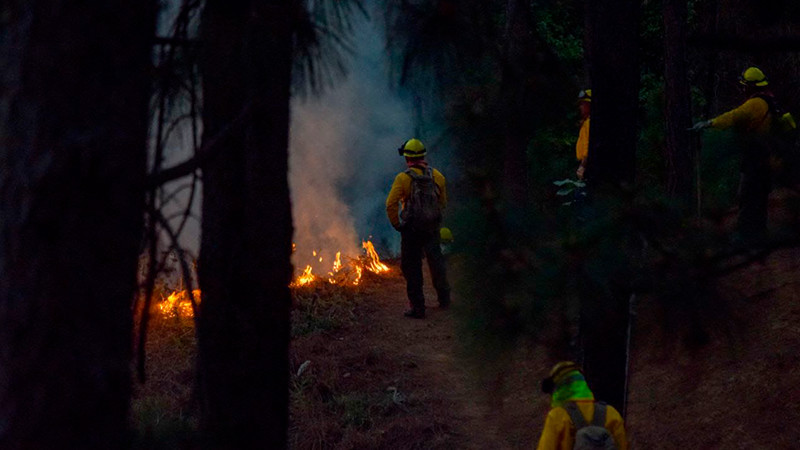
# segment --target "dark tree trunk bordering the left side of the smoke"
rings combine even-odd
[[[216,448],[286,447],[291,5],[209,0],[203,13],[203,140],[249,110],[202,167],[198,376]]]

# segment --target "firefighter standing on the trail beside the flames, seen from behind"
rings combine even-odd
[[[400,268],[406,279],[406,292],[411,305],[405,316],[422,319],[425,317],[425,297],[422,292],[423,255],[428,259],[428,268],[433,287],[436,289],[439,307],[450,306],[450,285],[447,282],[440,245],[441,213],[447,205],[447,189],[444,175],[428,166],[425,160],[427,150],[419,139],[409,139],[400,146],[398,153],[405,157],[407,168],[397,174],[392,183],[392,188],[386,197],[386,215],[392,227],[400,232]],[[426,197],[431,198],[433,195],[433,204],[423,206],[423,209],[435,209],[433,213],[438,213],[438,220],[424,225],[418,218],[409,215],[411,211],[416,210],[409,208],[411,206],[409,201],[412,199],[412,177],[421,176],[433,178],[433,182],[428,183],[432,192],[428,192],[429,195]],[[414,183],[416,186],[425,186],[418,181]],[[420,195],[415,195],[413,198],[419,197]],[[413,201],[418,202],[418,200]],[[403,208],[402,213],[400,206]]]

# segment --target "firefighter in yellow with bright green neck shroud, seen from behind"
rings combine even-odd
[[[595,401],[581,368],[572,361],[562,361],[542,380],[542,391],[551,394],[550,412],[544,422],[537,450],[567,450],[573,448],[577,427],[570,414],[580,414],[582,421],[591,424],[595,412],[605,410],[602,426],[607,439],[613,439],[615,448],[627,450],[628,438],[619,412],[611,406]],[[601,406],[602,405],[602,406]],[[573,412],[568,412],[573,409]],[[580,419],[580,418],[578,418]],[[606,448],[606,447],[602,447]]]

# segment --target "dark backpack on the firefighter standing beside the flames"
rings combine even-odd
[[[422,175],[410,168],[405,173],[411,177],[411,193],[400,213],[403,225],[416,232],[438,232],[442,223],[442,209],[439,207],[439,185],[433,180],[433,169],[428,167]]]

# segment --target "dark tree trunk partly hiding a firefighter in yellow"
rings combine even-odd
[[[638,68],[638,2],[591,2],[589,36],[592,76],[592,130],[586,177],[600,216],[615,217],[633,189],[636,166]],[[618,206],[609,206],[618,205]],[[622,225],[622,224],[618,224]],[[621,226],[609,230],[615,239]],[[622,233],[624,234],[624,233]],[[628,274],[626,237],[603,286],[590,290],[581,304],[584,368],[596,396],[624,410]],[[594,291],[594,292],[592,292]]]

